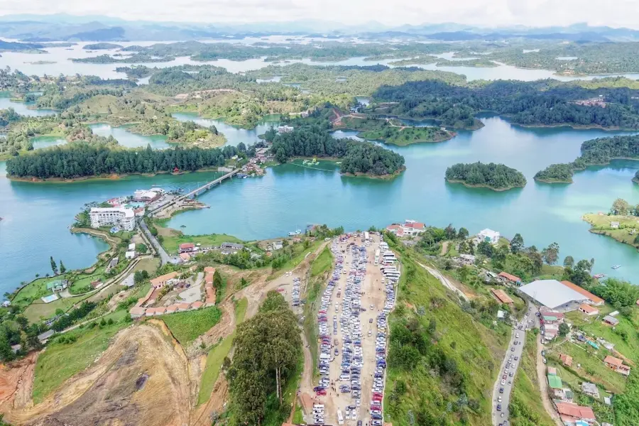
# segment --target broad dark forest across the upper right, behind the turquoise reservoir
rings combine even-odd
[[[445,126],[473,128],[480,111],[504,114],[515,124],[618,127],[639,129],[639,90],[626,87],[586,89],[549,80],[498,80],[479,87],[462,87],[439,80],[382,86],[373,97],[389,113],[416,119],[438,119]],[[604,104],[577,104],[596,98]]]

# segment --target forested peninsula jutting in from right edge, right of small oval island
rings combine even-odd
[[[552,164],[535,174],[540,182],[572,182],[577,170],[589,165],[608,165],[611,160],[639,160],[639,135],[596,138],[581,143],[581,156],[572,163]],[[633,178],[639,182],[639,172]]]

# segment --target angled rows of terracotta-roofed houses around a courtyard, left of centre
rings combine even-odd
[[[212,281],[211,281],[212,282]],[[158,300],[160,291],[166,286],[175,286],[180,283],[177,272],[160,275],[158,278],[151,280],[151,289],[144,297],[138,299],[136,305],[131,307],[129,314],[131,318],[153,317],[155,315],[173,314],[175,312],[183,312],[187,310],[198,310],[202,307],[212,306],[215,304],[215,298],[211,301],[207,295],[206,301],[196,300],[195,302],[173,303],[168,306],[153,306]]]

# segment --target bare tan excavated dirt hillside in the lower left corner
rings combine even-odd
[[[121,331],[97,363],[33,408],[13,410],[13,425],[182,426],[190,381],[179,346],[151,325]]]

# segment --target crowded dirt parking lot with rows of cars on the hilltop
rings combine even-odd
[[[317,317],[320,380],[309,423],[382,424],[386,315],[393,309],[394,280],[375,265],[380,237],[363,240],[359,234],[332,241],[335,264]]]

